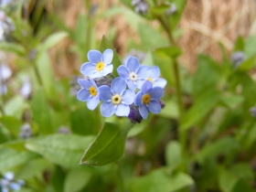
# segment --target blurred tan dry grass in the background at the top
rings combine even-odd
[[[72,28],[77,16],[86,12],[85,6],[82,0],[62,2],[65,3],[59,7],[59,16],[68,27]],[[92,2],[99,5],[98,13],[112,5],[120,5],[118,0],[93,0]],[[179,27],[184,30],[183,36],[178,39],[178,44],[184,52],[180,62],[193,71],[197,67],[198,53],[205,53],[220,60],[219,42],[224,45],[229,54],[236,37],[239,35],[247,37],[250,34],[251,25],[256,16],[254,10],[256,10],[256,2],[252,0],[187,0],[186,10],[179,24]],[[100,39],[112,26],[116,28],[114,48],[124,55],[127,51],[127,37],[138,40],[136,32],[126,24],[123,16],[117,16],[99,20],[96,24],[96,37]],[[55,48],[64,53],[62,59],[54,60],[54,63],[61,61],[61,65],[55,66],[55,71],[58,71],[60,76],[67,76],[70,72],[79,69],[79,62],[82,62],[67,51],[70,45],[71,42],[66,40]],[[52,56],[54,55],[55,51],[52,50]]]

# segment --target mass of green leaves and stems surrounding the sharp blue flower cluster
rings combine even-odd
[[[255,35],[237,37],[231,52],[219,42],[219,59],[199,53],[191,72],[176,43],[186,36],[178,25],[186,0],[143,1],[145,11],[131,0],[107,10],[83,1],[74,27],[59,16],[58,1],[33,2],[3,9],[15,30],[0,42],[11,57],[0,65],[12,69],[6,80],[0,70],[0,181],[13,172],[25,181],[21,192],[255,191]],[[176,11],[168,14],[171,4]],[[119,17],[133,34],[125,45]],[[167,81],[165,108],[141,123],[103,118],[101,106],[88,110],[71,81],[95,48],[113,50],[115,77],[134,52],[141,64],[158,66]],[[234,64],[230,56],[238,51],[244,58]],[[27,79],[31,92],[23,96]]]

